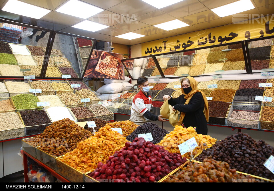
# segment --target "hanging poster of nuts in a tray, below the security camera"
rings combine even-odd
[[[122,54],[94,50],[98,57],[90,58],[84,78],[106,78],[124,80]]]

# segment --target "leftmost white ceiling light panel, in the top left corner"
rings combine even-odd
[[[3,7],[2,11],[7,11],[17,15],[31,17],[34,19],[40,19],[47,15],[51,10],[37,7],[28,3],[23,3],[17,0],[9,0]]]

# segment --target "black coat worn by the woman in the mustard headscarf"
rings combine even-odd
[[[174,109],[186,113],[183,119],[185,127],[196,127],[198,134],[207,135],[207,121],[203,112],[205,102],[202,94],[200,92],[194,94],[188,105],[184,105],[185,102],[184,95],[168,100],[168,104],[174,106]]]

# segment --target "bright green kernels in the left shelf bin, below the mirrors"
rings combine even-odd
[[[11,97],[16,109],[33,109],[42,108],[37,107],[39,99],[35,95],[31,94],[19,94]]]

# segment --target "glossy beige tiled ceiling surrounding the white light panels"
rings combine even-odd
[[[82,0],[91,5],[104,9],[101,13],[87,20],[108,25],[110,27],[96,32],[85,31],[71,27],[85,19],[55,12],[68,0],[20,0],[22,2],[37,5],[52,10],[41,19],[18,17],[18,15],[0,11],[2,18],[15,18],[17,22],[45,27],[56,31],[77,34],[98,40],[110,41],[119,44],[134,45],[151,40],[157,40],[178,34],[209,29],[233,23],[233,15],[218,17],[210,9],[235,2],[237,0],[184,0],[179,3],[157,9],[141,0]],[[0,9],[7,0],[0,0]],[[274,0],[251,0],[255,9],[242,12],[241,14],[267,15],[274,12]],[[15,5],[16,6],[16,5]],[[17,17],[16,17],[17,16]],[[153,25],[179,19],[190,26],[172,31],[164,31]],[[144,37],[126,40],[115,36],[127,32],[135,32],[145,35]]]

